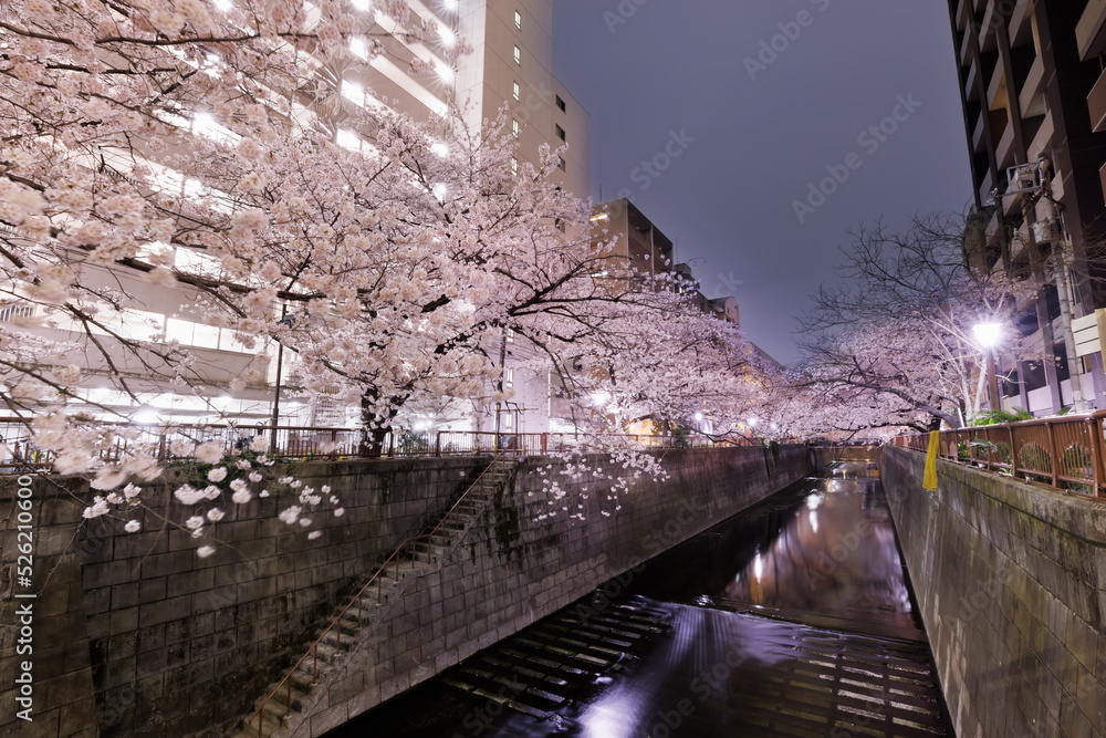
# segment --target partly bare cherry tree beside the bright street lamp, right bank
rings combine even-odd
[[[961,216],[852,233],[842,281],[803,316],[792,386],[812,409],[807,430],[959,427],[979,414],[987,370],[973,329],[1001,323],[1005,350],[1020,351],[1015,319],[1035,283],[989,268],[978,236]]]

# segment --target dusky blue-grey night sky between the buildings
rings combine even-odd
[[[971,200],[943,2],[554,0],[553,38],[591,114],[595,201],[629,193],[785,363],[846,230]]]

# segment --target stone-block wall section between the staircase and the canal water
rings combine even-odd
[[[528,459],[441,569],[415,581],[405,606],[358,644],[292,735],[324,735],[825,461],[803,447],[672,451],[664,457],[667,479],[643,475],[607,499],[608,477],[623,471],[616,460],[593,457],[591,471],[562,476],[563,461]],[[543,491],[546,481],[564,497]],[[543,519],[551,509],[557,514]]]

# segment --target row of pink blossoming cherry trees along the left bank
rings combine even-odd
[[[375,6],[409,43],[437,33],[401,0]],[[59,471],[95,475],[88,517],[140,505],[160,472],[140,446],[102,462],[126,430],[65,409],[90,374],[136,404],[150,386],[212,394],[197,355],[135,329],[166,290],[247,347],[293,350],[299,388],[358,405],[375,440],[405,407],[501,399],[507,330],[581,412],[602,392],[623,420],[706,410],[737,429],[765,413],[737,331],[591,248],[588,206],[552,181],[557,152],[515,167],[502,119],[472,129],[456,106],[418,122],[345,100],[344,71],[385,53],[369,28],[330,0],[0,7],[0,297],[15,316],[35,309],[0,323],[0,399]],[[229,384],[263,380],[250,365]],[[173,450],[210,467],[177,490],[210,502],[188,520],[197,536],[225,498],[270,493],[260,446]],[[286,522],[341,510],[299,495]]]

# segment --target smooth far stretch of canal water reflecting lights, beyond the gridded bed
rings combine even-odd
[[[781,492],[649,563],[635,591],[919,637],[890,516],[863,464]],[[799,617],[803,620],[803,617]]]

